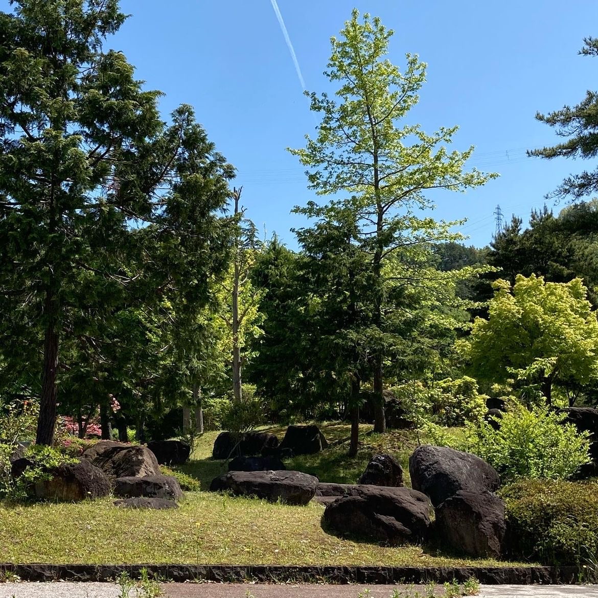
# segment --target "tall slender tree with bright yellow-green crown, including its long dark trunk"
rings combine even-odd
[[[419,217],[415,210],[432,207],[427,191],[465,191],[483,185],[493,174],[466,170],[473,148],[449,151],[457,127],[440,127],[428,134],[405,121],[419,100],[426,65],[407,54],[404,71],[386,57],[392,30],[380,19],[357,10],[340,38],[332,38],[325,76],[337,85],[335,98],[307,93],[311,109],[321,115],[315,138],[306,147],[289,149],[307,167],[310,188],[334,196],[327,205],[310,201],[295,212],[321,222],[355,221],[350,244],[368,255],[370,283],[365,311],[370,316],[368,352],[372,356],[375,431],[386,429],[382,402],[385,341],[384,263],[414,243],[450,238],[449,225]],[[323,227],[325,228],[325,227]]]

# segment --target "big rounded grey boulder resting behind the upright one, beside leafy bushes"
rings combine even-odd
[[[494,492],[500,485],[495,469],[471,453],[423,445],[409,458],[411,486],[428,495],[434,507],[459,490]]]

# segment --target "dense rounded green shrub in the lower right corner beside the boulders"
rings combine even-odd
[[[512,559],[591,565],[598,559],[598,483],[521,480],[499,491]]]

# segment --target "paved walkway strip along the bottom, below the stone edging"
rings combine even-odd
[[[274,585],[274,584],[163,584],[164,598],[390,598],[396,588],[401,598],[413,596],[422,586],[400,585]],[[438,587],[443,593],[443,588]],[[69,582],[0,584],[0,598],[121,598],[115,584]],[[480,598],[598,598],[598,585],[482,585]],[[137,598],[132,590],[130,598]]]

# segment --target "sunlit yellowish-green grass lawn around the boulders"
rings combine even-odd
[[[408,433],[365,436],[354,462],[347,444],[287,463],[322,480],[354,482],[371,453],[390,450],[406,465],[413,447]],[[347,426],[322,426],[333,443]],[[283,434],[283,429],[274,429]],[[206,488],[223,471],[209,458],[218,432],[197,444],[184,471]],[[13,563],[187,563],[228,565],[507,565],[460,560],[420,547],[385,547],[339,539],[324,532],[324,507],[269,504],[209,492],[187,492],[176,511],[118,509],[112,499],[79,504],[0,504],[0,561]]]

